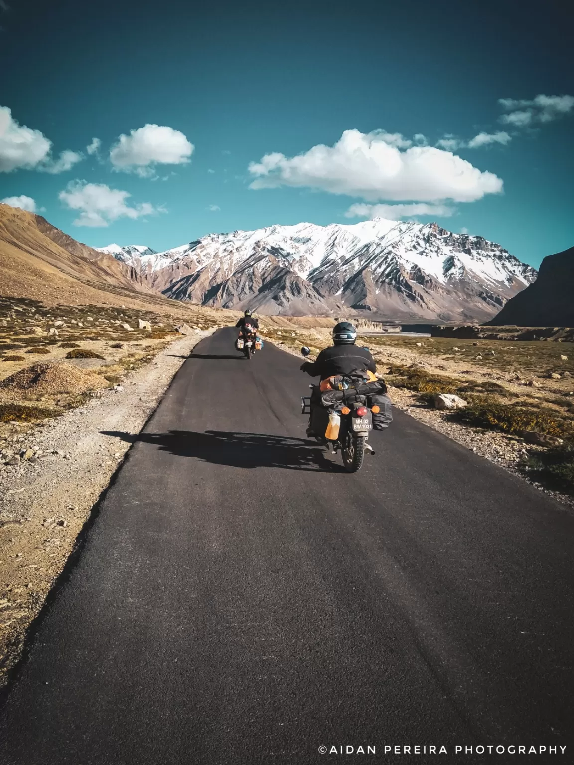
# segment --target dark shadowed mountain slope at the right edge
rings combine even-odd
[[[488,324],[574,327],[574,247],[544,258],[536,282],[508,301]]]

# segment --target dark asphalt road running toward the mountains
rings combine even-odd
[[[299,361],[232,340],[196,348],[101,503],[2,708],[2,765],[569,744],[572,515],[400,412],[341,472],[305,440]]]

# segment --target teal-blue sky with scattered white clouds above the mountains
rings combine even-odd
[[[414,216],[536,266],[574,243],[568,12],[2,0],[0,200],[157,250]]]

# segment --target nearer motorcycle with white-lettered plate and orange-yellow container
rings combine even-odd
[[[303,356],[311,353],[308,347],[302,347]],[[316,386],[310,385],[309,388],[315,389]],[[373,412],[377,414],[380,410],[377,405],[369,408],[367,406],[366,396],[360,396],[357,391],[349,386],[349,383],[343,379],[341,381],[341,390],[343,397],[341,401],[334,402],[328,408],[316,406],[315,417],[317,422],[321,420],[321,412],[328,415],[328,424],[325,428],[325,435],[315,436],[319,444],[326,446],[331,454],[337,454],[341,451],[343,457],[343,466],[347,473],[356,473],[363,464],[364,454],[368,451],[374,455],[374,449],[369,444],[369,432],[373,430]],[[311,414],[311,396],[302,396],[302,415]],[[321,424],[321,430],[325,422]]]

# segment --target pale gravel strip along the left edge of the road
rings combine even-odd
[[[64,568],[94,503],[191,350],[214,330],[176,340],[115,389],[18,435],[41,456],[0,465],[0,686]]]

